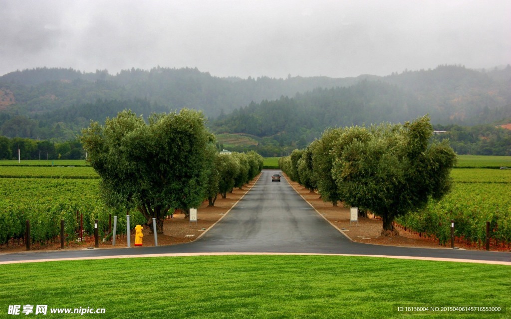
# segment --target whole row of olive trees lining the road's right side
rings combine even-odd
[[[430,143],[432,135],[428,116],[404,125],[329,129],[279,165],[291,180],[317,189],[323,201],[381,216],[382,236],[393,236],[394,218],[450,190],[456,154],[447,140]]]

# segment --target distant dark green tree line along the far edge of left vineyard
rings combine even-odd
[[[0,136],[0,159],[22,160],[83,159],[85,153],[79,140],[55,143],[49,140]]]

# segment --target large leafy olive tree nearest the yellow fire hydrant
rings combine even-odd
[[[197,207],[204,198],[214,141],[202,113],[153,114],[149,123],[131,111],[91,122],[81,141],[90,165],[101,177],[101,192],[109,206],[136,207],[157,232],[169,210]]]

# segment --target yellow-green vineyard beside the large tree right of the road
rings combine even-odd
[[[477,166],[477,165],[476,165]],[[509,248],[511,243],[511,170],[453,169],[454,187],[442,200],[428,203],[420,212],[398,218],[397,223],[421,236],[446,244],[454,220],[457,242],[484,246],[486,222],[491,244]]]

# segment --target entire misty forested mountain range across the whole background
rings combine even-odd
[[[37,68],[0,77],[0,130],[9,137],[73,138],[90,119],[202,110],[218,133],[304,144],[326,127],[402,122],[476,125],[511,117],[511,66],[476,71],[443,65],[386,77],[218,78],[197,68]]]

